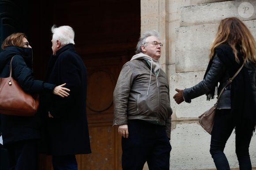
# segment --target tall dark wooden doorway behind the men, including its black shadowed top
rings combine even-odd
[[[75,48],[87,67],[87,118],[92,154],[77,155],[79,170],[121,170],[121,137],[117,127],[112,126],[113,90],[121,67],[134,55],[140,33],[140,1],[41,0],[34,6],[34,10],[40,11],[40,16],[34,16],[40,18],[38,25],[48,29],[41,32],[41,40],[31,40],[43,42],[34,50],[41,55],[35,61],[36,73],[45,73],[40,66],[45,67],[49,59],[45,56],[51,52],[49,30],[53,24],[72,26]],[[40,170],[53,170],[50,156],[40,155],[39,160]]]

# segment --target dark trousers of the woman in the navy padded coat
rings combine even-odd
[[[9,170],[37,169],[37,140],[22,140],[4,147],[8,150]]]

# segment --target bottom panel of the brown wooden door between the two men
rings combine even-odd
[[[77,155],[79,170],[121,170],[120,140],[112,123],[89,124],[92,154]]]

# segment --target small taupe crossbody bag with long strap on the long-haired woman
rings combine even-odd
[[[202,115],[200,115],[198,117],[199,124],[203,127],[203,129],[207,133],[211,134],[211,130],[212,130],[213,123],[214,123],[215,113],[216,113],[216,110],[217,110],[217,107],[218,107],[218,100],[219,100],[220,96],[222,95],[222,93],[224,92],[226,87],[232,83],[233,79],[241,71],[241,69],[244,67],[244,65],[245,65],[245,63],[243,63],[243,65],[239,68],[239,70],[236,72],[236,74],[232,78],[229,79],[229,81],[227,82],[225,87],[219,93],[219,95],[217,97],[217,102],[214,104],[214,106],[211,107],[209,110],[205,111]]]

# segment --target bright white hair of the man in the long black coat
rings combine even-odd
[[[67,44],[75,44],[75,32],[71,26],[60,26],[56,27],[55,25],[52,26],[52,33],[53,33],[53,41],[59,40],[61,46]]]

